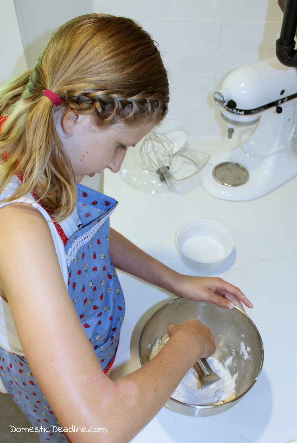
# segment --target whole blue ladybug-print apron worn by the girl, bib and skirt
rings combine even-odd
[[[115,358],[125,311],[123,292],[108,254],[109,215],[117,202],[90,188],[79,189],[77,186],[81,228],[68,241],[62,232],[67,241],[68,291],[101,367],[108,373]],[[69,441],[25,357],[0,347],[0,377],[42,443]]]

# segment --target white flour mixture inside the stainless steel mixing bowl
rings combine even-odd
[[[149,356],[149,360],[154,358],[162,349],[162,347],[168,342],[169,335],[163,334],[161,338],[158,338]],[[199,406],[209,406],[214,404],[227,403],[235,398],[235,380],[237,373],[232,377],[228,366],[231,365],[233,356],[229,357],[224,364],[220,363],[216,358],[209,357],[207,359],[212,370],[220,376],[220,380],[198,389],[197,378],[195,377],[195,370],[191,368],[182,379],[181,383],[177,386],[172,398],[187,404],[197,404]]]

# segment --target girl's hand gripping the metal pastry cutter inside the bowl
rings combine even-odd
[[[209,327],[198,319],[189,319],[179,325],[170,323],[167,325],[167,332],[169,337],[175,334],[184,334],[184,345],[186,345],[189,352],[197,350],[195,361],[198,358],[210,357],[216,350],[215,339]]]

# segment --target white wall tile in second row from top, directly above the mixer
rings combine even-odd
[[[268,23],[222,23],[220,35],[221,48],[258,48],[270,49],[281,31],[280,22]]]

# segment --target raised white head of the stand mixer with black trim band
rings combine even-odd
[[[221,117],[228,123],[228,138],[235,126],[257,123],[266,110],[282,113],[282,105],[296,99],[297,75],[277,57],[233,70],[214,94]]]

